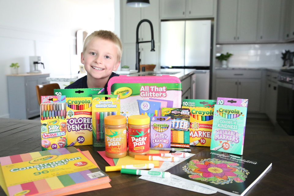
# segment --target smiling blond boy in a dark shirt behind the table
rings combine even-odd
[[[81,63],[87,75],[78,79],[65,89],[104,88],[111,77],[119,76],[112,71],[119,67],[123,46],[119,38],[111,31],[95,31],[84,41]]]

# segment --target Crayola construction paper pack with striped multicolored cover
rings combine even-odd
[[[55,161],[58,161],[57,163],[66,162],[66,164],[57,165],[55,163],[54,165],[53,162]],[[50,167],[39,168],[40,174],[37,176],[35,174],[38,169],[29,167],[32,164],[43,167],[44,165],[40,164],[48,162],[52,162]],[[86,164],[77,165],[82,162]],[[70,191],[75,193],[74,191],[78,190],[81,192],[93,190],[94,186],[110,181],[107,174],[91,161],[89,162],[89,159],[74,147],[0,157],[0,163],[9,195],[23,194],[28,196],[39,193],[67,195]],[[12,166],[15,168],[13,175],[10,171]],[[21,170],[21,172],[17,170],[17,168],[26,167],[27,169]],[[42,173],[42,171],[49,172]],[[62,175],[56,175],[57,171],[62,171]],[[97,176],[96,173],[102,176]],[[107,188],[109,186],[106,184],[95,188]],[[88,189],[89,187],[93,189]]]

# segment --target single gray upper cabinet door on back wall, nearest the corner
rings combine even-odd
[[[259,0],[258,42],[280,40],[281,0]]]

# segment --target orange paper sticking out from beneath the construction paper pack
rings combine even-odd
[[[93,159],[93,157],[91,156],[91,154],[90,154],[90,152],[88,150],[87,151],[81,151],[80,149],[77,149],[77,150],[80,151],[82,154],[84,154],[90,161],[92,161],[93,164],[95,164],[99,168],[99,166],[97,165],[97,163],[95,162],[95,160]],[[4,190],[6,195],[8,195],[8,190],[7,190],[7,187],[6,187],[5,180],[4,180],[1,165],[0,165],[0,186]],[[96,185],[96,186],[93,186],[93,187],[88,187],[88,188],[83,188],[83,189],[79,189],[79,190],[69,191],[69,192],[63,193],[63,194],[57,194],[56,196],[77,194],[77,193],[83,193],[83,192],[87,192],[87,191],[99,190],[99,189],[110,188],[110,187],[111,187],[110,183],[104,183],[104,184]]]

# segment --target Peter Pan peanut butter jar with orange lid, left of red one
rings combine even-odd
[[[105,155],[109,158],[122,158],[127,154],[126,117],[120,115],[106,116]]]

